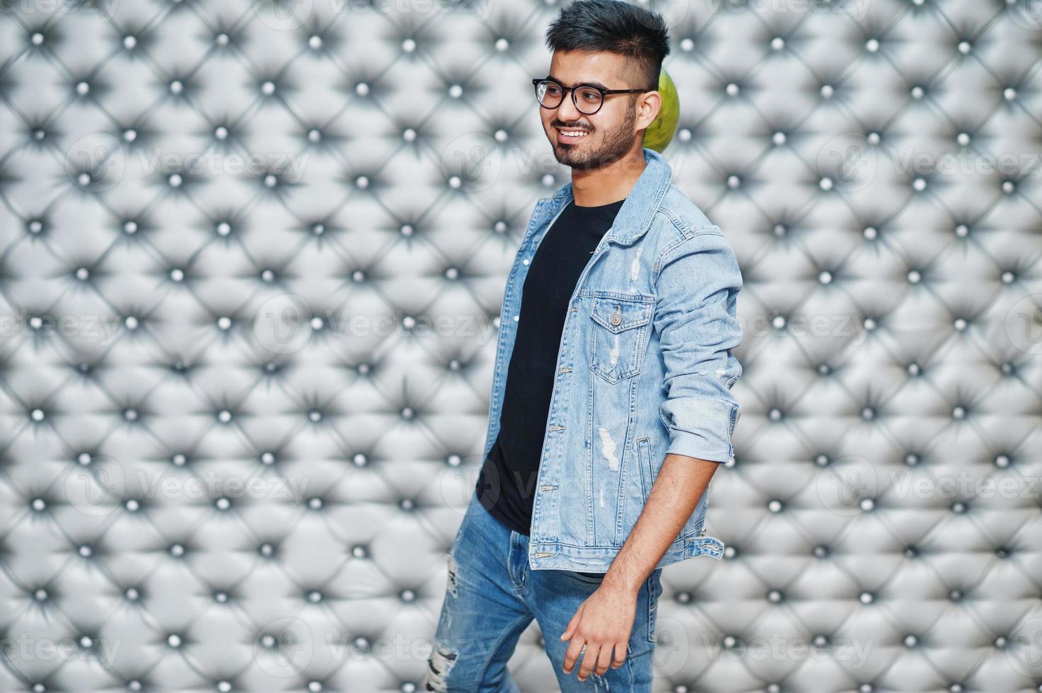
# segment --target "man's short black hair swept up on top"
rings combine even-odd
[[[575,0],[546,30],[551,51],[607,51],[632,59],[623,78],[630,89],[659,89],[669,35],[662,15],[621,0]]]

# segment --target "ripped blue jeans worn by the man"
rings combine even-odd
[[[506,662],[532,618],[546,641],[546,654],[563,693],[651,690],[654,618],[662,593],[662,568],[651,572],[637,596],[625,664],[591,672],[579,682],[580,655],[571,674],[562,665],[569,643],[561,640],[568,622],[600,585],[603,575],[570,570],[529,570],[528,537],[489,515],[476,494],[452,542],[448,587],[433,649],[427,660],[425,691],[518,693]]]

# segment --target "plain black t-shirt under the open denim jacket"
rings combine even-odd
[[[481,466],[475,488],[489,514],[522,535],[527,535],[531,525],[539,460],[568,301],[590,255],[624,201],[593,207],[569,202],[547,229],[525,277],[499,436]]]

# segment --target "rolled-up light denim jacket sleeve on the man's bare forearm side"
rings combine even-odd
[[[659,414],[669,429],[667,453],[712,462],[734,455],[741,407],[730,389],[742,366],[731,349],[742,342],[741,288],[738,259],[719,227],[698,230],[662,257],[654,328],[666,371]]]

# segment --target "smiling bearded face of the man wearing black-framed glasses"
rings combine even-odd
[[[599,83],[605,89],[642,89],[622,76],[630,60],[618,53],[554,51],[549,76],[564,86]],[[600,110],[588,116],[575,108],[568,92],[556,108],[539,107],[543,130],[559,163],[573,169],[597,169],[625,157],[659,113],[658,92],[605,96]],[[649,102],[649,103],[646,103]],[[640,107],[638,107],[640,104]],[[562,132],[582,131],[578,138]],[[640,131],[640,132],[639,132]]]

